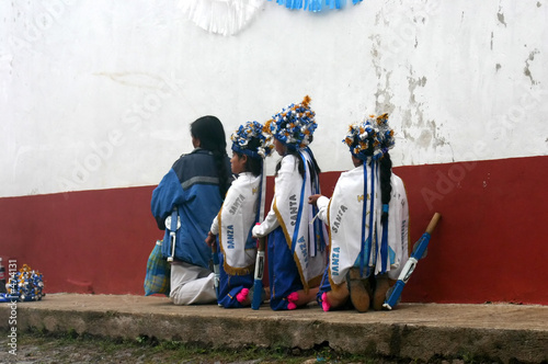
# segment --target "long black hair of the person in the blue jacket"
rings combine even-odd
[[[199,148],[213,152],[219,175],[219,193],[224,200],[229,187],[229,171],[226,162],[228,158],[227,140],[222,124],[215,116],[202,116],[191,124],[191,135],[199,139]]]

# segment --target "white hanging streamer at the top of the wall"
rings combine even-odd
[[[180,0],[179,9],[203,30],[235,35],[256,14],[264,0]]]

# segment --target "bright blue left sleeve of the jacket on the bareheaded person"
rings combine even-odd
[[[171,214],[174,206],[185,202],[184,195],[181,182],[175,171],[171,169],[152,192],[152,200],[150,201],[150,209],[159,229],[165,230],[165,217]]]

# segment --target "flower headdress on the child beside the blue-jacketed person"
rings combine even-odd
[[[259,140],[259,146],[250,145],[253,138]],[[230,140],[232,140],[233,151],[255,159],[269,157],[274,149],[272,136],[263,133],[263,125],[258,122],[247,122],[246,125],[240,125],[230,136]]]

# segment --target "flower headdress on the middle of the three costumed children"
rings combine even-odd
[[[300,104],[290,104],[274,115],[264,128],[287,148],[297,150],[312,141],[313,130],[318,127],[315,117],[316,113],[310,109],[310,96],[306,95]]]

